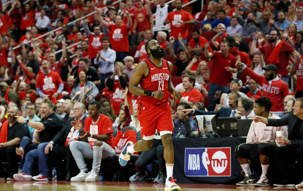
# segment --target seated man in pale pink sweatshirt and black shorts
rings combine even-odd
[[[280,119],[275,114],[271,114],[272,103],[268,97],[261,97],[255,101],[254,112],[255,115],[270,118]],[[267,178],[269,160],[270,157],[274,156],[276,147],[276,131],[283,131],[283,137],[287,137],[286,126],[282,127],[271,127],[266,126],[262,122],[256,123],[252,121],[246,138],[246,143],[238,145],[236,147],[236,155],[238,161],[243,169],[245,178],[243,181],[238,182],[238,186],[270,186]],[[260,161],[262,167],[262,174],[260,179],[257,181],[255,176],[252,175],[249,166],[249,161],[258,163]]]

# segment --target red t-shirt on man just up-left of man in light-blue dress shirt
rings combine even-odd
[[[96,36],[95,33],[91,32],[91,35],[89,35],[88,38],[88,58],[96,58],[96,55],[98,54],[98,51],[101,51],[103,49],[102,46],[102,38],[103,33],[100,33],[100,35]]]

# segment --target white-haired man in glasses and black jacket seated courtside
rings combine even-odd
[[[50,169],[53,169],[53,167],[58,169],[58,161],[67,156],[66,169],[68,170],[68,173],[65,178],[66,181],[71,179],[71,174],[74,174],[75,176],[78,174],[78,168],[75,169],[75,166],[77,166],[76,161],[69,150],[69,143],[73,140],[79,140],[79,130],[71,125],[71,121],[81,121],[84,126],[84,121],[86,119],[85,105],[83,103],[75,103],[72,110],[74,117],[69,117],[66,120],[66,124],[62,130],[59,131],[45,147],[45,154],[48,156]],[[57,173],[58,179],[63,179],[65,173],[60,170],[57,170]]]

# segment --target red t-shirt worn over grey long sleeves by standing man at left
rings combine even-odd
[[[50,71],[47,75],[40,72],[37,77],[36,87],[41,88],[44,94],[52,95],[57,92],[58,85],[61,83],[63,82],[57,72]]]

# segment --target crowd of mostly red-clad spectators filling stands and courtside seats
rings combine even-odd
[[[290,156],[302,160],[303,2],[213,0],[194,15],[191,4],[182,7],[186,2],[15,0],[4,5],[0,160],[8,162],[8,170],[1,163],[0,176],[48,180],[66,157],[58,179],[99,181],[102,160],[121,153],[125,137],[139,140],[140,97],[128,91],[128,82],[135,66],[148,59],[145,42],[155,38],[174,65],[171,79],[182,95],[169,99],[173,138],[186,136],[185,119],[198,133],[195,115],[259,116],[248,133],[252,144],[236,151],[245,177],[237,185],[269,186],[272,158],[285,164],[275,185],[298,184],[286,164],[291,165]],[[276,131],[284,136],[276,137]],[[145,166],[154,160],[159,161],[154,181],[164,181],[157,132],[154,139],[151,150],[135,153],[138,172],[130,181],[146,177]],[[92,159],[92,168],[85,158]],[[39,174],[32,176],[37,160]],[[261,163],[260,178],[252,175],[251,161]]]

